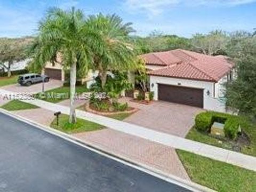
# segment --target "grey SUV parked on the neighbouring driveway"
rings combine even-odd
[[[39,75],[39,74],[25,74],[25,75],[20,75],[18,77],[18,83],[20,85],[25,85],[25,86],[30,86],[34,83],[41,83],[43,82],[49,82],[50,77],[47,75]]]

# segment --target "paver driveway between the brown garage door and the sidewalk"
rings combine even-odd
[[[179,105],[171,102],[154,101],[150,105],[131,102],[131,98],[122,98],[130,106],[140,110],[125,119],[125,122],[137,124],[156,131],[179,137],[185,137],[194,124],[195,115],[203,111],[201,108]]]

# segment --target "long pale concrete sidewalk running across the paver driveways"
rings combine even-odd
[[[0,89],[0,94],[4,95],[14,93]],[[69,114],[69,107],[60,106],[54,103],[37,99],[27,99],[28,100],[23,101],[44,109],[52,111],[61,111],[61,113],[63,114]],[[205,145],[204,143],[183,139],[174,135],[150,130],[142,126],[117,121],[115,119],[87,113],[81,110],[77,110],[77,117],[104,125],[106,127],[109,127],[110,129],[114,129],[123,133],[141,137],[143,139],[148,139],[150,141],[161,143],[162,145],[165,146],[186,150],[189,151],[190,153],[195,153],[198,155],[202,155],[204,157],[215,159],[217,161],[226,162],[229,164],[243,167],[245,169],[256,171],[256,158],[252,156],[236,153],[235,151],[230,151],[210,145]]]

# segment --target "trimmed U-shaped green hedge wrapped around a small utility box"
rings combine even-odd
[[[195,128],[201,132],[210,132],[214,122],[223,123],[225,137],[236,139],[239,132],[239,118],[234,115],[207,111],[200,113],[195,118]]]

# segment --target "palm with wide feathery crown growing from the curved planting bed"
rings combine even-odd
[[[132,23],[123,23],[117,15],[91,15],[86,20],[87,28],[97,33],[92,45],[93,69],[99,71],[101,86],[104,88],[107,72],[129,70],[135,66],[133,47],[128,42],[128,35],[134,31]]]

